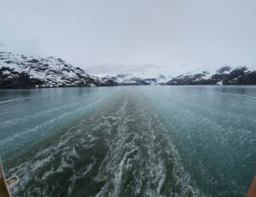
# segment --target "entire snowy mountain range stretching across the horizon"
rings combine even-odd
[[[79,67],[53,56],[15,55],[0,52],[0,88],[91,87],[116,85],[200,85],[256,84],[253,68],[228,66],[210,73],[204,70],[186,72],[176,77],[137,72],[98,78]]]

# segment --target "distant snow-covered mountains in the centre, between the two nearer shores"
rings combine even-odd
[[[117,74],[115,76],[107,76],[102,79],[111,79],[119,85],[153,85],[165,84],[171,79],[171,77],[166,77],[161,74],[137,72],[132,74]]]

